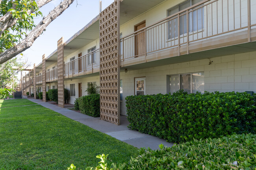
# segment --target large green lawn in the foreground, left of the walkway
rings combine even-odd
[[[0,170],[66,170],[71,163],[85,169],[98,165],[98,154],[109,154],[108,163],[122,163],[138,153],[41,105],[0,108]]]

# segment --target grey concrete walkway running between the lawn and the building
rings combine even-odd
[[[82,124],[85,124],[95,130],[106,133],[116,139],[123,141],[125,143],[131,144],[137,148],[148,148],[150,147],[153,150],[159,149],[159,144],[163,144],[164,146],[171,147],[173,143],[168,143],[164,139],[160,139],[158,137],[154,137],[151,135],[147,135],[144,133],[137,132],[135,130],[129,129],[127,126],[129,122],[126,116],[121,115],[121,125],[117,126],[115,124],[102,121],[99,117],[91,117],[88,115],[84,115],[82,113],[74,112],[67,108],[60,108],[54,104],[50,104],[48,102],[43,102],[39,99],[28,99],[32,102],[40,104],[45,108],[49,108],[55,112],[58,112],[70,119],[78,121]]]

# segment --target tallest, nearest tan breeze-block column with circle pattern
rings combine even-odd
[[[120,1],[100,13],[100,119],[120,124]]]

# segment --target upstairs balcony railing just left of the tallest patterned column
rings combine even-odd
[[[75,74],[85,75],[86,71],[100,66],[100,50],[88,53],[82,57],[70,61],[64,66],[66,76],[74,77]]]

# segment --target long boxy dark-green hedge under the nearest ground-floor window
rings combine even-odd
[[[177,143],[255,133],[255,105],[255,96],[235,92],[126,97],[130,128]]]

